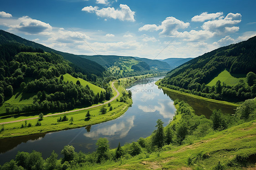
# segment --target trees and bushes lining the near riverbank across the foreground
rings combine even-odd
[[[177,108],[174,120],[166,127],[163,126],[164,122],[158,120],[156,130],[148,138],[139,138],[137,142],[126,143],[122,147],[119,143],[118,147],[113,150],[110,150],[109,142],[106,138],[99,138],[96,142],[97,150],[88,154],[81,151],[77,153],[73,146],[67,145],[61,150],[61,159],[58,159],[58,155],[54,150],[50,157],[45,160],[42,158],[42,154],[35,150],[31,153],[18,152],[15,160],[10,160],[10,162],[0,166],[0,170],[93,169],[96,166],[98,169],[105,169],[100,167],[104,163],[105,165],[112,165],[119,162],[119,165],[122,165],[122,161],[134,161],[133,158],[136,156],[137,158],[139,156],[139,160],[143,160],[144,158],[152,157],[152,155],[157,155],[156,158],[159,159],[162,151],[171,150],[175,146],[184,144],[191,146],[194,141],[200,140],[210,133],[218,134],[220,131],[256,118],[256,98],[246,100],[238,107],[236,114],[233,116],[224,115],[220,110],[214,110],[210,119],[206,119],[204,115],[195,115],[193,108],[184,101],[175,100],[174,105]],[[204,140],[201,141],[203,142]],[[229,142],[226,141],[226,143]],[[183,147],[185,146],[188,145]],[[225,152],[228,151],[225,150]],[[188,166],[202,165],[204,160],[209,159],[214,154],[209,150],[205,150],[197,155],[187,155],[187,160],[182,159],[182,161],[183,164],[185,161]],[[242,155],[233,151],[234,154],[236,155],[234,157],[230,156],[229,161],[226,162],[221,161],[220,163],[219,161],[222,158],[215,158],[213,170],[241,169],[250,165],[250,160],[255,155],[255,150],[250,150]]]

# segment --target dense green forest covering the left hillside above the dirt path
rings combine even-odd
[[[66,73],[87,80],[87,75],[77,73],[73,66],[71,62],[53,52],[46,53],[42,49],[19,44],[1,45],[0,105],[13,95],[14,90],[37,95],[32,105],[22,108],[12,105],[6,107],[7,114],[35,110],[66,110],[110,99],[110,89],[95,95],[88,85],[80,85],[79,80],[76,84],[64,82],[63,75]]]

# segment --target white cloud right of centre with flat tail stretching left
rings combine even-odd
[[[158,31],[158,30],[162,30],[162,32],[160,32],[160,35],[164,35],[164,36],[174,36],[177,35],[179,32],[179,29],[185,29],[189,26],[189,23],[184,23],[181,20],[178,20],[174,17],[167,17],[161,25],[157,26],[155,24],[153,25],[144,25],[143,27],[139,28],[139,31]]]

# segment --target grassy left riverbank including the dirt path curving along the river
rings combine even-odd
[[[105,101],[104,104],[92,105],[88,108],[71,110],[62,113],[56,114],[47,114],[43,117],[43,120],[40,121],[41,125],[36,125],[38,122],[38,117],[34,116],[20,116],[20,117],[11,117],[1,120],[1,123],[15,121],[4,125],[0,125],[0,139],[3,138],[12,138],[25,135],[35,135],[41,133],[49,133],[59,130],[74,129],[79,127],[84,127],[88,125],[95,125],[109,120],[113,120],[123,115],[128,107],[132,104],[132,99],[127,99],[126,102],[119,102],[122,91],[126,91],[124,87],[118,86],[117,82],[110,82],[111,85],[115,86],[117,90],[113,93],[113,98],[109,101]],[[110,110],[110,106],[112,110]],[[102,107],[107,109],[107,113],[102,115],[100,109]],[[90,119],[85,121],[87,112],[90,112]],[[57,122],[60,117],[67,116],[68,121]],[[25,119],[26,118],[26,119]],[[72,120],[72,121],[70,121]],[[29,124],[31,124],[31,127]],[[23,128],[22,128],[23,126]]]

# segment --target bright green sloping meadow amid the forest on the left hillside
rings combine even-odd
[[[80,79],[80,78],[75,78],[75,77],[73,77],[72,75],[70,75],[68,73],[63,75],[63,77],[64,77],[64,81],[69,81],[69,82],[72,81],[74,84],[76,84],[77,80],[79,80],[81,85],[83,85],[83,86],[88,85],[90,87],[90,89],[93,90],[93,92],[95,94],[100,93],[101,91],[105,91],[104,89],[102,89],[101,87],[98,87],[97,85],[93,85],[92,83],[89,83],[88,81]],[[58,77],[58,78],[60,79],[61,76]]]

